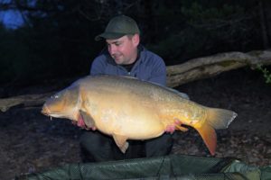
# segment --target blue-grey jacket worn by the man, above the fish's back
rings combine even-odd
[[[138,59],[130,72],[125,67],[117,65],[107,50],[94,59],[90,68],[90,75],[118,75],[135,76],[140,80],[166,84],[166,68],[164,60],[153,52],[139,46]]]

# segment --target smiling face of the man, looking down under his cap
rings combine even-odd
[[[107,49],[118,65],[132,64],[137,56],[139,35],[123,36],[117,40],[106,40]]]

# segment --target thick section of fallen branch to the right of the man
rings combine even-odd
[[[255,68],[257,64],[271,65],[271,51],[227,52],[210,57],[194,58],[183,64],[167,67],[167,85],[171,87],[183,85],[240,67]]]

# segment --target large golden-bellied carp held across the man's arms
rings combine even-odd
[[[128,148],[126,139],[156,138],[169,126],[186,130],[176,124],[180,121],[199,131],[212,155],[215,129],[228,128],[237,116],[192,102],[171,88],[125,76],[81,78],[48,99],[42,113],[95,127],[113,136],[122,152]]]

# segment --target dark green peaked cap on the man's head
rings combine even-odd
[[[110,22],[107,24],[106,30],[96,36],[95,40],[114,40],[125,35],[135,33],[140,33],[135,20],[126,15],[119,15],[110,20]]]

